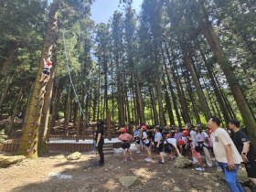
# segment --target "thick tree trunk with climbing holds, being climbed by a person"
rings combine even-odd
[[[26,155],[28,158],[37,158],[37,141],[39,125],[41,121],[41,112],[44,103],[45,85],[39,82],[42,68],[44,66],[43,59],[50,57],[52,52],[53,34],[57,26],[57,16],[59,10],[59,0],[54,0],[51,5],[48,30],[45,37],[42,50],[40,64],[37,69],[37,78],[31,91],[30,101],[28,101],[28,110],[24,121],[24,133],[21,143],[19,144],[17,155]]]

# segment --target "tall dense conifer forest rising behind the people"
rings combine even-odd
[[[22,112],[46,133],[60,118],[182,126],[218,116],[223,127],[240,120],[255,144],[255,1],[144,0],[136,15],[123,0],[101,24],[93,2],[1,1],[1,119]],[[35,123],[26,118],[43,59],[53,69]]]

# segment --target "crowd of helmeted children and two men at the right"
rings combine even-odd
[[[159,125],[149,127],[142,124],[133,128],[133,136],[123,127],[119,136],[123,148],[123,161],[127,161],[127,153],[133,160],[130,143],[134,139],[137,146],[135,153],[140,154],[145,150],[146,162],[155,162],[151,153],[159,154],[159,164],[165,164],[165,155],[170,159],[183,155],[198,165],[197,171],[203,172],[205,166],[213,167],[212,159],[215,159],[217,170],[223,172],[231,192],[245,191],[237,177],[242,164],[251,181],[252,191],[255,191],[256,150],[246,133],[240,130],[239,121],[230,120],[229,130],[220,128],[219,125],[218,117],[211,117],[207,127],[199,123],[195,126],[187,123],[182,128]]]

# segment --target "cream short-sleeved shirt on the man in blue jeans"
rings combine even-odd
[[[233,143],[229,133],[227,133],[226,130],[219,127],[211,133],[210,138],[213,142],[213,151],[217,161],[221,163],[228,163],[225,145],[230,144],[233,162],[235,164],[240,164],[242,162],[240,153],[238,152],[235,144]]]

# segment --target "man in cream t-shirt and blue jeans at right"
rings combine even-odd
[[[208,120],[208,128],[212,130],[210,138],[213,142],[215,158],[222,169],[229,190],[231,192],[244,192],[237,177],[242,158],[229,133],[220,128],[219,125],[218,117],[211,117]]]

